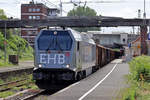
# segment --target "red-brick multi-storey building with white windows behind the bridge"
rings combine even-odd
[[[59,16],[60,10],[57,8],[49,8],[43,3],[30,2],[29,4],[21,5],[22,20],[40,20],[48,19],[49,17]],[[26,39],[29,44],[34,46],[34,39],[37,36],[40,28],[22,28],[21,36]]]

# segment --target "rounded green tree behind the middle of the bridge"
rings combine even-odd
[[[94,9],[91,9],[90,7],[86,6],[86,7],[82,7],[79,6],[76,9],[73,9],[71,11],[68,12],[67,16],[96,16],[97,13]],[[97,27],[92,27],[92,28],[74,28],[75,30],[79,31],[79,32],[87,32],[87,31],[91,31],[91,30],[100,30],[100,28]]]

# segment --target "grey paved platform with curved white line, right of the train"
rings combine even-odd
[[[120,89],[127,86],[125,75],[128,72],[128,64],[115,60],[89,77],[46,96],[46,100],[116,100]]]

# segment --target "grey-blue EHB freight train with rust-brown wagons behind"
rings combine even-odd
[[[81,80],[115,59],[115,53],[70,28],[41,30],[35,39],[33,79],[42,89]]]

